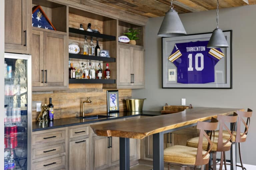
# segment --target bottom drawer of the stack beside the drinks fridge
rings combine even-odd
[[[65,165],[65,156],[47,159],[32,164],[33,170],[57,169]],[[64,168],[64,167],[63,167]]]

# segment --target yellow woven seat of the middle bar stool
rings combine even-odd
[[[187,140],[187,146],[189,147],[196,147],[198,146],[199,137],[194,137]],[[213,141],[213,137],[211,139]],[[225,143],[227,140],[223,139],[223,143]],[[218,137],[214,137],[213,145],[212,145],[212,151],[217,151],[217,144],[218,144]],[[224,147],[231,146],[231,142],[228,142]],[[203,138],[203,149],[206,150],[208,146],[208,140],[204,137]]]

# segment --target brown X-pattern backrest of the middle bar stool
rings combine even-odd
[[[235,123],[237,121],[237,113],[233,113],[233,115],[229,115],[229,116],[225,116],[225,115],[218,115],[217,119],[218,121],[220,122],[220,128],[219,128],[219,137],[218,137],[218,144],[217,144],[217,151],[226,151],[226,150],[229,150],[231,145],[230,146],[226,146],[225,145],[231,141],[232,142],[232,136],[233,136],[233,133],[234,133],[234,129],[235,129]],[[232,130],[230,130],[226,123],[233,123],[233,127],[231,128]],[[229,133],[230,135],[230,138],[223,143],[223,129],[226,129],[226,131]],[[225,147],[225,149],[224,149]],[[227,149],[229,148],[229,149]]]

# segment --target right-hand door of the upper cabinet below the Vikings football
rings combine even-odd
[[[144,85],[144,48],[132,47],[132,74],[134,86]]]

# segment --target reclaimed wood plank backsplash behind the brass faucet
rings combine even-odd
[[[60,119],[79,116],[83,112],[82,102],[90,97],[93,105],[85,103],[85,114],[101,114],[107,113],[107,90],[102,88],[102,84],[69,84],[69,89],[64,91],[33,92],[32,101],[48,105],[51,97],[54,119]],[[120,111],[127,110],[124,99],[130,99],[131,95],[131,89],[119,89]],[[38,114],[32,111],[33,121],[37,121]]]

